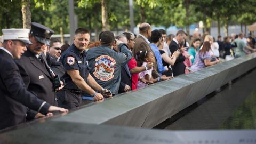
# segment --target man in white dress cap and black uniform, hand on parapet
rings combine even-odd
[[[13,59],[20,59],[27,51],[29,29],[2,29],[3,47],[0,47],[0,129],[26,121],[27,107],[46,115],[48,111],[67,111],[50,106],[26,90]]]

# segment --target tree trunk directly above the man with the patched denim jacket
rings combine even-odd
[[[105,0],[101,0],[101,20],[102,20],[102,30],[103,31],[109,30],[107,2]]]

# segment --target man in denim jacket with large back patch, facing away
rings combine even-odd
[[[115,39],[111,31],[101,34],[100,44],[101,46],[87,51],[90,74],[98,84],[116,95],[121,81],[121,66],[132,58],[132,53],[127,45]],[[119,52],[113,50],[114,46]]]

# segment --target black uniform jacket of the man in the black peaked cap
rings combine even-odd
[[[53,75],[44,54],[42,58],[43,62],[28,49],[19,60],[16,60],[16,63],[28,91],[35,93],[39,99],[55,105]]]

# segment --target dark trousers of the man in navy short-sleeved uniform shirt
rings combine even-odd
[[[73,109],[82,105],[81,94],[61,90],[57,94],[58,106],[66,109]]]

